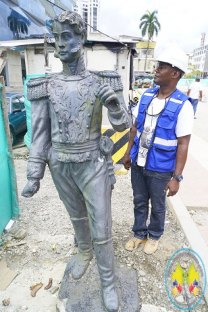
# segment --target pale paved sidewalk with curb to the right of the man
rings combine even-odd
[[[205,93],[208,93],[208,87],[205,88]],[[178,194],[167,198],[167,203],[191,249],[201,257],[208,274],[208,102],[198,103],[196,117],[183,172],[184,180]],[[207,211],[206,225],[197,225],[189,214],[191,210],[196,211],[196,214],[202,210]],[[205,299],[208,303],[208,288],[205,291]]]

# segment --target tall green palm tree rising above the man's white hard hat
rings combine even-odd
[[[139,24],[139,29],[141,30],[141,35],[144,37],[146,33],[148,33],[148,47],[146,51],[146,58],[145,58],[145,64],[144,64],[144,72],[146,72],[146,61],[147,61],[147,55],[148,55],[148,48],[150,44],[150,40],[153,39],[153,35],[158,35],[158,31],[160,31],[160,24],[157,19],[157,10],[150,13],[150,11],[146,11],[146,14],[144,14]]]

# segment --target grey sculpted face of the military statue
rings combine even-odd
[[[67,23],[53,24],[56,56],[62,62],[70,63],[80,58],[83,47],[83,35],[77,35]]]

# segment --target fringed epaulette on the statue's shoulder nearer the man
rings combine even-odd
[[[123,91],[123,85],[121,83],[121,76],[116,71],[90,71],[100,78],[101,84],[109,83],[116,91]]]

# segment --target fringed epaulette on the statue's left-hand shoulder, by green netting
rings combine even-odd
[[[46,77],[31,78],[27,83],[27,98],[29,101],[46,98],[47,96]]]

